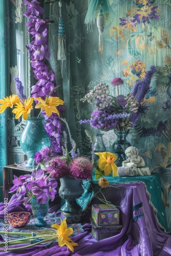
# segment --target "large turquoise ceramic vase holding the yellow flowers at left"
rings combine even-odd
[[[34,155],[45,146],[51,145],[42,120],[44,120],[43,117],[29,117],[20,136],[20,146],[27,155],[26,168],[33,168]]]

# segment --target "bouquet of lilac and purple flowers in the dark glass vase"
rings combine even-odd
[[[80,120],[80,123],[89,123],[95,129],[110,131],[115,129],[118,132],[130,130],[138,120],[140,113],[147,110],[145,103],[141,104],[149,89],[153,74],[156,72],[154,66],[146,72],[141,80],[127,96],[110,95],[109,86],[102,83],[95,86],[82,100],[93,103],[96,109],[88,120]],[[112,80],[113,85],[121,85],[119,78]],[[107,102],[106,102],[107,101]]]

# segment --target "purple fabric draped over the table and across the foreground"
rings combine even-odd
[[[90,216],[92,204],[101,203],[93,198],[82,214],[84,232],[72,237],[78,243],[72,253],[66,246],[59,247],[54,243],[50,248],[37,245],[24,250],[1,252],[1,255],[26,256],[67,256],[67,255],[97,255],[97,256],[166,256],[171,255],[171,236],[159,226],[153,207],[149,204],[143,183],[115,184],[114,187],[102,189],[103,195],[120,209],[120,223],[123,228],[114,237],[96,241],[91,233]],[[13,196],[14,197],[14,196]],[[101,193],[98,197],[102,198]],[[16,205],[15,198],[9,202],[13,211],[24,206]],[[136,207],[135,207],[136,206]],[[16,208],[15,208],[16,207]],[[30,210],[29,206],[27,206]],[[3,217],[3,203],[0,204],[0,216]],[[59,215],[59,212],[58,212]]]

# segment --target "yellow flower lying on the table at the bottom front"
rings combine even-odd
[[[61,224],[53,224],[51,227],[56,228],[56,236],[58,238],[58,245],[63,246],[66,245],[72,252],[74,252],[74,246],[78,246],[77,243],[74,243],[68,236],[73,233],[73,228],[67,228],[67,222],[65,218],[63,221],[61,220]]]

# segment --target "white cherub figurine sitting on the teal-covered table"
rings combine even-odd
[[[145,166],[144,159],[138,155],[138,149],[136,147],[127,147],[125,150],[125,155],[127,156],[127,159],[122,162],[123,167],[131,167],[133,172],[140,176],[151,175],[149,168]]]

